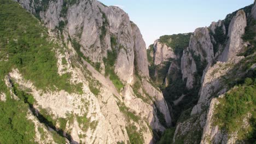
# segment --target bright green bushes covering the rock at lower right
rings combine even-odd
[[[229,134],[238,130],[240,139],[255,140],[256,79],[254,79],[254,83],[251,78],[245,79],[243,85],[236,86],[226,93],[224,98],[219,98],[218,100],[220,104],[215,109],[214,124],[219,125]],[[250,126],[252,128],[241,128],[244,123],[243,118],[248,113],[252,114]]]

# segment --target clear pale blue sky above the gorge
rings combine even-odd
[[[161,35],[194,32],[210,26],[233,11],[253,4],[253,0],[100,0],[129,14],[147,47]]]

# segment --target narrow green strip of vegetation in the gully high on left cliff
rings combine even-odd
[[[114,64],[117,61],[117,52],[115,50],[108,51],[107,58],[103,58],[105,65],[105,75],[109,76],[109,79],[113,82],[118,91],[121,91],[121,88],[124,87],[123,83],[119,80],[117,74],[114,71]]]

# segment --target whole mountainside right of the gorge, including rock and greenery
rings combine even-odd
[[[153,63],[152,59],[173,55],[177,35],[160,37],[158,45],[149,47],[149,68],[153,68],[150,77],[161,86],[176,124],[159,143],[254,141],[253,11],[255,5],[249,5],[227,15],[225,20],[197,28],[190,38],[183,40],[183,53],[176,54],[178,58],[164,60],[168,68],[159,69],[159,63]],[[168,51],[159,55],[158,51],[166,47]],[[158,75],[158,71],[164,71],[163,75]]]

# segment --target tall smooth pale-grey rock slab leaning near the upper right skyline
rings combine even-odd
[[[246,27],[246,14],[245,11],[237,11],[236,16],[234,16],[229,25],[228,33],[228,44],[226,45],[222,56],[220,56],[219,61],[227,62],[230,58],[237,55],[237,53],[243,48],[243,40],[241,36],[245,33]]]

